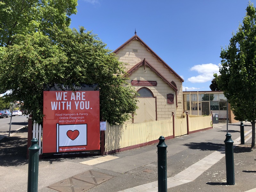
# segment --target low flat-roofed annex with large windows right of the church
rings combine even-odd
[[[220,120],[227,120],[228,106],[228,122],[238,122],[234,119],[227,98],[221,91],[201,91],[201,92],[183,92],[184,111],[189,115],[210,115],[218,114]]]

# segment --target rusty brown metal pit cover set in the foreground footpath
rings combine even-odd
[[[52,188],[60,192],[84,192],[96,185],[99,185],[100,183],[110,180],[111,178],[113,178],[113,176],[105,173],[86,171],[50,185],[48,188]]]

